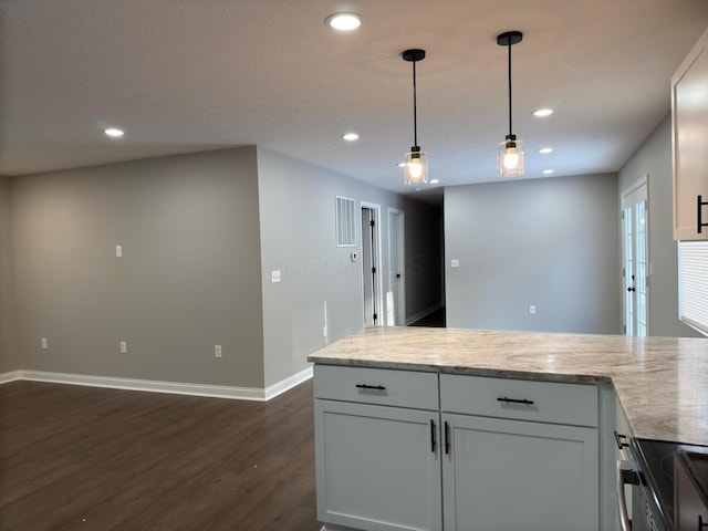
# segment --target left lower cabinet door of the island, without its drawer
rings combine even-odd
[[[315,399],[317,518],[441,530],[439,413]]]

